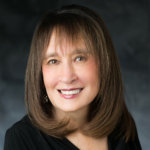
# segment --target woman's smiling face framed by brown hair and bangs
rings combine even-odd
[[[98,63],[82,40],[58,44],[55,39],[53,33],[42,63],[47,95],[59,111],[88,108],[99,91]]]

